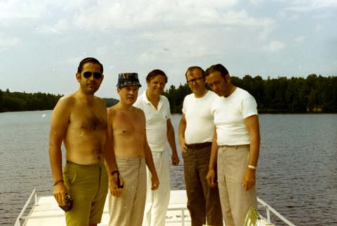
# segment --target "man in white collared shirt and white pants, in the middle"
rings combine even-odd
[[[146,205],[144,211],[144,226],[164,226],[166,211],[170,201],[170,165],[169,147],[172,149],[172,165],[179,164],[177,147],[174,139],[174,128],[170,120],[170,103],[161,95],[167,83],[165,72],[154,69],[146,76],[148,88],[134,103],[142,109],[146,117],[146,135],[151,148],[155,171],[158,173],[160,187],[146,191]],[[167,145],[168,144],[168,145]],[[147,171],[148,172],[148,171]],[[148,180],[149,177],[148,172]],[[148,183],[149,184],[149,183]]]

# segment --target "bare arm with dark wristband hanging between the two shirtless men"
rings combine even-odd
[[[109,111],[108,113],[108,129],[106,132],[106,145],[104,149],[104,158],[105,158],[105,165],[106,171],[108,173],[109,178],[109,189],[111,194],[115,197],[120,197],[122,192],[121,187],[117,187],[117,177],[120,177],[120,185],[124,187],[124,180],[120,175],[117,167],[116,157],[115,157],[115,150],[113,149],[113,112]]]

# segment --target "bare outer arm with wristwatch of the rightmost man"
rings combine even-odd
[[[243,121],[246,124],[250,136],[250,152],[248,165],[256,167],[260,152],[259,118],[257,115],[253,115],[251,117],[243,119]],[[255,185],[255,171],[256,169],[247,168],[245,178],[243,178],[243,187],[245,187],[246,191],[251,190]]]

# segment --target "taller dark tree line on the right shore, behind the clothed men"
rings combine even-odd
[[[262,79],[246,75],[242,79],[231,77],[231,82],[254,96],[260,113],[337,113],[336,76],[310,74],[307,78]],[[172,113],[182,112],[182,102],[189,93],[187,84],[177,88],[172,85],[165,91]]]

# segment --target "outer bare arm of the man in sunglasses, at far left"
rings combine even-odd
[[[65,205],[67,188],[63,182],[61,145],[67,133],[70,121],[72,100],[61,98],[51,114],[51,129],[49,133],[49,159],[53,174],[53,196],[59,205]]]

